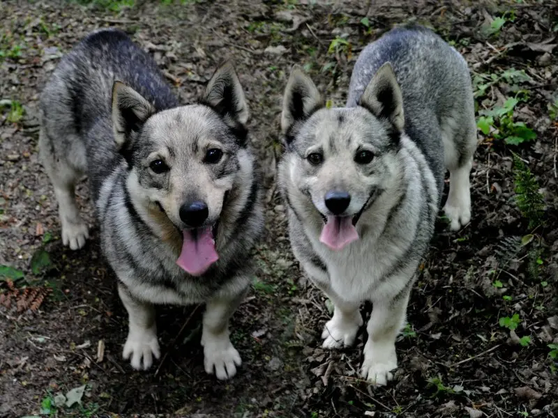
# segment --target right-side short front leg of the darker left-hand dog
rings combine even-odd
[[[202,330],[204,366],[206,373],[215,373],[219,380],[232,378],[236,367],[242,364],[239,352],[229,339],[229,319],[244,295],[246,292],[236,297],[218,297],[206,303]]]

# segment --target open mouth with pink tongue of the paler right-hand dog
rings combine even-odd
[[[368,208],[368,203],[375,196],[376,191],[372,192],[368,199],[366,199],[361,210],[354,216],[335,216],[328,215],[325,216],[322,213],[322,218],[324,219],[324,227],[322,228],[322,235],[319,236],[320,242],[327,245],[329,248],[339,251],[345,248],[351,242],[359,239],[359,233],[356,231],[356,222],[359,222],[361,215]]]

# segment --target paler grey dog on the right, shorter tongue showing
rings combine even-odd
[[[422,26],[392,29],[361,52],[345,107],[326,108],[293,68],[281,130],[278,181],[292,250],[334,305],[323,347],[352,345],[363,325],[359,306],[371,301],[361,376],[386,385],[446,168],[451,229],[471,218],[477,139],[467,63]]]

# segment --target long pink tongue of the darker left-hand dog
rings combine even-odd
[[[183,235],[182,251],[176,264],[193,276],[204,274],[219,259],[211,227],[195,231],[185,229]]]

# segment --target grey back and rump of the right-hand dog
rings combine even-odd
[[[372,76],[388,61],[402,91],[405,132],[425,154],[441,192],[445,169],[440,141],[444,141],[446,167],[460,166],[463,162],[458,155],[471,153],[453,155],[453,147],[448,149],[444,137],[451,137],[451,142],[455,141],[452,145],[460,150],[471,147],[469,138],[476,132],[467,63],[429,29],[417,25],[394,29],[359,55],[349,85],[347,107],[359,103]]]

